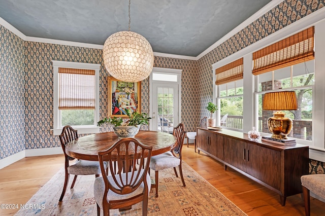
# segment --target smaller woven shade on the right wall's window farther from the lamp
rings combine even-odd
[[[232,81],[243,79],[244,77],[244,59],[240,58],[229,64],[215,69],[216,85],[229,83]]]

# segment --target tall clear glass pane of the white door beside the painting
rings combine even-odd
[[[173,133],[174,129],[174,90],[172,87],[158,87],[158,131]]]

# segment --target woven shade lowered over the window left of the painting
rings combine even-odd
[[[58,69],[59,110],[95,109],[95,70]]]

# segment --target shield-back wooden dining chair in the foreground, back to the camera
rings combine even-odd
[[[108,216],[110,209],[130,209],[141,201],[142,215],[147,215],[151,153],[152,146],[145,146],[135,138],[120,139],[108,150],[98,153],[102,176],[94,182],[97,215],[100,215],[101,209]],[[108,161],[108,170],[105,169],[105,161]]]

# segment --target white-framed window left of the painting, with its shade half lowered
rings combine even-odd
[[[99,132],[99,64],[53,61],[53,129]]]

